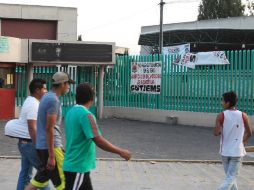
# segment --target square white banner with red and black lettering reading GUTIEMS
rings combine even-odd
[[[131,92],[160,94],[161,61],[131,63]]]

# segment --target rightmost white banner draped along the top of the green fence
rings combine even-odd
[[[181,65],[189,68],[195,68],[195,65],[225,65],[225,64],[229,64],[229,61],[224,51],[187,53],[182,57],[181,62]]]

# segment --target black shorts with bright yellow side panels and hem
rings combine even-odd
[[[53,170],[46,168],[49,157],[48,150],[37,150],[37,152],[42,165],[38,168],[36,175],[32,179],[32,185],[37,188],[42,188],[51,180],[57,190],[65,189],[65,179],[62,169],[64,159],[63,150],[60,147],[54,149],[56,166]]]

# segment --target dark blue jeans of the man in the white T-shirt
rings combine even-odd
[[[32,142],[22,143],[19,140],[18,149],[21,154],[21,170],[19,172],[17,190],[24,190],[25,186],[29,184],[32,178],[33,167],[38,168],[40,165],[40,159],[37,155],[37,151]],[[49,185],[43,190],[49,190]]]

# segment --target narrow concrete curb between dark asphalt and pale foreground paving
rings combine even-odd
[[[20,159],[20,156],[0,156],[0,159]],[[97,158],[98,161],[123,161],[121,158]],[[131,159],[129,162],[150,162],[151,164],[169,162],[169,163],[202,163],[202,164],[221,164],[220,160],[181,160],[181,159]],[[243,161],[244,165],[254,166],[254,161]]]

